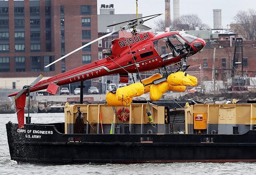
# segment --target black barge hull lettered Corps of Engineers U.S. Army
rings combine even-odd
[[[11,159],[39,163],[256,161],[256,130],[220,134],[62,134],[64,123],[6,124]]]

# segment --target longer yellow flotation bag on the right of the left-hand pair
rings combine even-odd
[[[134,83],[128,86],[120,87],[116,90],[116,98],[119,101],[129,100],[132,97],[139,97],[144,93],[144,85],[142,83]]]

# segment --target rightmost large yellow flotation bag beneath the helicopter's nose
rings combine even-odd
[[[197,78],[186,72],[175,72],[168,76],[167,81],[172,86],[196,86]]]

